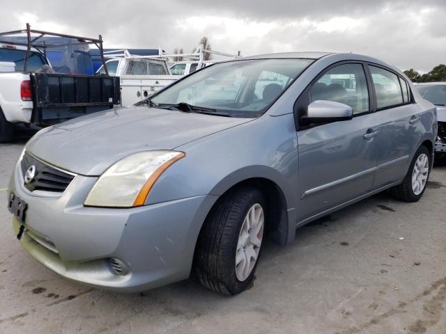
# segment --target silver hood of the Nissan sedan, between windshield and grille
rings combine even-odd
[[[250,120],[147,106],[117,108],[43,129],[26,144],[26,150],[73,173],[100,175],[132,153],[172,150]]]

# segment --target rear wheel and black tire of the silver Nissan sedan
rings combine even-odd
[[[424,155],[423,155],[424,154]],[[414,189],[413,186],[413,174],[417,174],[415,169],[415,164],[417,164],[418,159],[420,157],[426,156],[427,157],[427,174],[425,175],[426,179],[424,184],[420,183],[420,188]],[[412,159],[412,162],[410,163],[409,170],[406,174],[406,176],[403,179],[403,182],[399,184],[398,186],[394,186],[390,189],[390,193],[394,198],[397,198],[399,200],[403,200],[404,202],[417,202],[420,200],[420,198],[423,196],[424,191],[426,190],[426,184],[429,180],[429,175],[431,173],[431,164],[432,163],[432,157],[431,153],[425,146],[420,146],[420,148],[415,153],[415,156]],[[418,167],[417,167],[418,169]]]

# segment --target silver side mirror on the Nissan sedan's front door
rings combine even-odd
[[[304,124],[320,122],[336,122],[338,120],[351,120],[353,109],[344,103],[316,100],[309,104],[307,116],[300,118]]]

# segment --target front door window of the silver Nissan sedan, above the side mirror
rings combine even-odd
[[[353,113],[369,111],[369,90],[361,64],[333,67],[313,84],[310,102],[327,100],[347,104]]]

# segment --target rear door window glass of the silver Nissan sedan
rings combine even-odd
[[[376,107],[380,109],[402,104],[403,93],[397,74],[376,66],[369,66],[369,68],[375,87]]]

